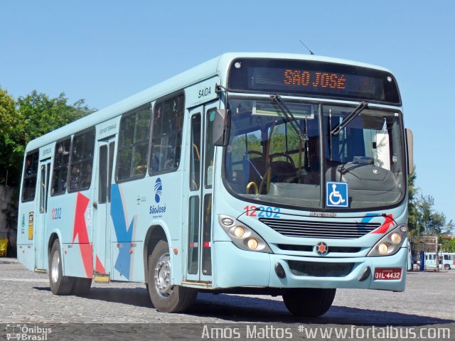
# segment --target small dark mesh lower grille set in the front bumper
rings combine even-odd
[[[355,263],[316,263],[314,261],[288,261],[294,276],[346,277]]]

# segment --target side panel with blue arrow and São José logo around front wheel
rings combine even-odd
[[[170,249],[178,249],[181,240],[181,176],[182,172],[176,171],[112,185],[113,280],[144,281],[144,239],[152,225],[161,226],[171,238],[168,240]],[[173,264],[176,264],[173,271],[178,271],[181,278],[179,256],[173,252],[170,254]]]

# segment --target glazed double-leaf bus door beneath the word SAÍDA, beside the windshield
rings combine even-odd
[[[213,112],[218,102],[205,104],[189,112],[191,141],[184,181],[188,188],[187,210],[183,210],[183,249],[185,281],[199,282],[210,286],[212,281],[212,200],[213,200],[213,158],[212,143]],[[186,222],[186,224],[185,224]]]

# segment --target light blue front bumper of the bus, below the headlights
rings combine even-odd
[[[264,288],[364,288],[388,291],[404,291],[406,282],[407,248],[392,256],[328,258],[324,256],[287,256],[283,254],[265,254],[255,251],[244,251],[235,247],[232,242],[215,242],[213,246],[215,276],[213,288],[237,288],[255,286]],[[307,262],[317,268],[319,264],[336,265],[353,264],[346,276],[299,276],[292,273],[289,261]],[[281,264],[286,276],[279,278],[274,271],[275,264]],[[360,281],[359,278],[370,267],[371,274]],[[393,280],[374,280],[375,268],[400,268],[402,276]]]

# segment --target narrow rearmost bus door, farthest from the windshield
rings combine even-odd
[[[45,266],[45,246],[44,235],[46,233],[46,220],[48,214],[48,194],[49,194],[49,178],[50,178],[50,158],[40,161],[39,171],[39,198],[38,198],[38,219],[36,219],[36,227],[34,229],[33,243],[35,244],[35,270],[43,270]],[[55,215],[55,212],[52,212]]]

